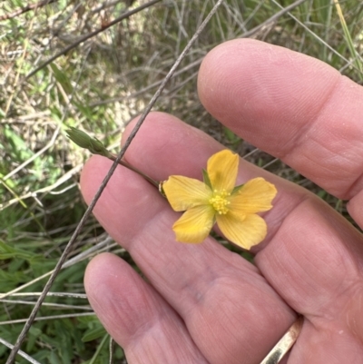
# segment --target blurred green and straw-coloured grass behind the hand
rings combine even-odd
[[[124,126],[142,113],[216,1],[161,1],[106,29],[109,22],[146,3],[0,3],[1,362],[9,354],[5,341],[15,343],[85,210],[78,174],[88,154],[69,143],[64,130],[74,126],[92,131],[117,152]],[[197,97],[203,56],[221,42],[246,35],[319,58],[361,83],[362,2],[340,0],[345,32],[333,0],[306,0],[283,12],[292,3],[225,0],[155,107],[200,127],[250,162],[316,192],[346,214],[344,203],[213,120]],[[96,30],[103,31],[72,48]],[[72,49],[64,52],[67,48]],[[132,262],[91,218],[22,346],[34,360],[108,362],[110,339],[83,290],[86,263],[100,251],[113,251]],[[123,360],[121,348],[111,351],[113,360]]]

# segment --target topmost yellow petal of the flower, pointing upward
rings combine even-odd
[[[217,152],[207,164],[213,190],[231,192],[236,183],[239,156],[229,150]]]

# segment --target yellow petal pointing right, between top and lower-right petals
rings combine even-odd
[[[241,215],[266,212],[272,207],[271,202],[276,193],[276,187],[272,183],[263,178],[254,178],[231,195],[229,209]]]

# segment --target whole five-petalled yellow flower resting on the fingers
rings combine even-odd
[[[184,212],[172,226],[177,241],[203,241],[216,221],[224,236],[244,249],[265,238],[266,222],[256,213],[270,210],[277,190],[263,178],[235,187],[238,164],[239,156],[224,150],[208,160],[204,182],[177,175],[163,182],[172,209]]]

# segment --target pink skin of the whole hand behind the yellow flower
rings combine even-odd
[[[201,64],[204,107],[244,140],[340,199],[363,227],[363,88],[327,64],[254,40],[221,44]],[[131,132],[128,126],[123,141]],[[126,159],[155,180],[201,179],[223,147],[170,114],[152,113]],[[111,162],[94,156],[81,187],[90,202]],[[243,160],[238,182],[262,176],[279,193],[264,214],[255,265],[211,237],[174,241],[180,214],[152,185],[117,168],[94,214],[132,254],[142,279],[103,253],[85,272],[89,300],[130,364],[260,363],[296,320],[281,363],[363,362],[363,239],[317,196]]]

